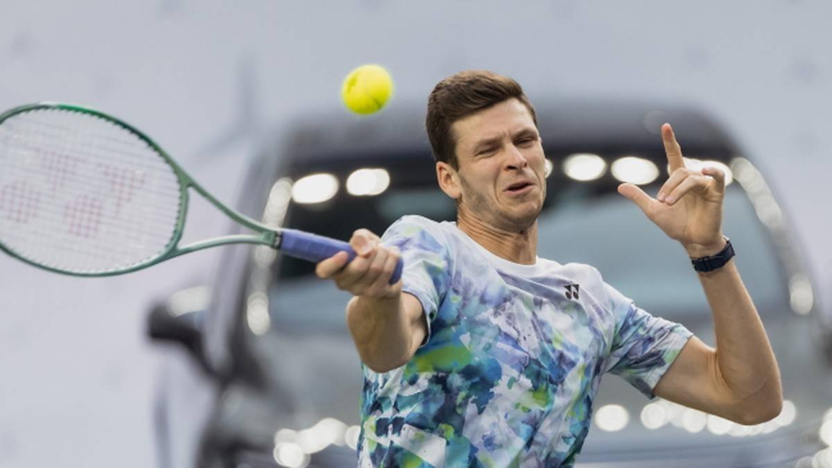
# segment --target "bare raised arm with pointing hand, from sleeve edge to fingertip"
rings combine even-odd
[[[714,167],[687,168],[669,124],[661,127],[671,176],[656,199],[632,184],[630,198],[691,257],[711,256],[725,246],[721,232],[725,174]],[[783,404],[780,371],[760,316],[734,261],[699,279],[716,331],[716,350],[691,337],[653,389],[657,396],[742,424],[768,421]]]

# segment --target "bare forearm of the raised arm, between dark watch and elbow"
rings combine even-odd
[[[713,315],[719,377],[735,399],[779,407],[775,354],[734,261],[698,275]]]

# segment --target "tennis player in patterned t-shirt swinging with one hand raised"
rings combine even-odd
[[[457,222],[403,217],[381,239],[359,230],[354,261],[341,252],[317,266],[354,294],[360,466],[573,466],[605,372],[740,424],[780,413],[774,352],[721,232],[724,175],[686,168],[670,125],[671,175],[656,199],[631,184],[618,192],[693,259],[716,349],[592,266],[537,256],[545,157],[517,82],[484,71],[444,79],[427,130]],[[404,275],[389,285],[399,256]]]

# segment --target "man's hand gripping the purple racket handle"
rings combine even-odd
[[[390,276],[399,262],[399,249],[384,246],[379,236],[367,229],[359,229],[349,239],[355,258],[349,261],[347,252],[339,251],[315,267],[315,274],[335,281],[340,290],[355,296],[389,299],[399,296],[402,281],[389,284]]]

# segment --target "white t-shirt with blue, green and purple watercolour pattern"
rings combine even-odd
[[[359,466],[572,466],[604,372],[652,389],[691,332],[651,316],[592,266],[504,260],[453,222],[403,217],[428,339],[404,366],[364,366]]]

